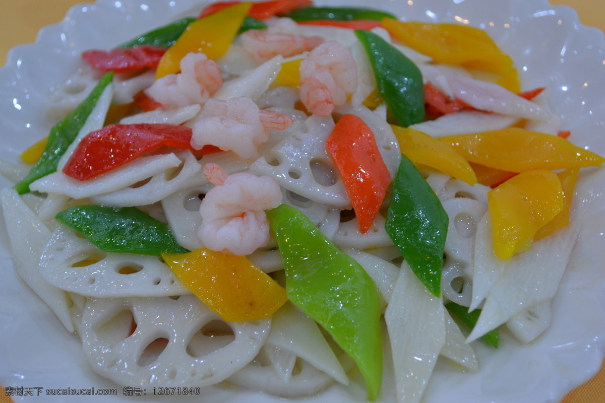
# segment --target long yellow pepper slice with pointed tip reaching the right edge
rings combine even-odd
[[[605,158],[562,137],[520,127],[439,139],[466,161],[510,172],[600,166]]]

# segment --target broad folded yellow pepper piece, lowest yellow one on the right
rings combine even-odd
[[[488,193],[488,207],[494,253],[509,259],[563,210],[561,181],[545,169],[520,173]]]

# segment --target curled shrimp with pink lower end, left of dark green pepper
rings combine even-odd
[[[318,116],[328,116],[344,105],[357,88],[353,55],[340,42],[329,40],[313,49],[300,66],[302,105]]]

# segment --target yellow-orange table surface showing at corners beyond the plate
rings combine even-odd
[[[0,66],[7,51],[19,44],[34,42],[38,30],[59,22],[68,8],[82,0],[0,0]],[[584,25],[605,30],[605,2],[603,0],[551,0],[551,4],[570,5],[578,11]],[[2,396],[0,396],[0,403]],[[571,392],[563,403],[605,403],[605,367],[581,387]]]

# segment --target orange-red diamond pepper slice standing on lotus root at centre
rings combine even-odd
[[[359,230],[366,233],[391,181],[374,135],[361,118],[345,114],[325,141],[325,148],[347,189]]]

